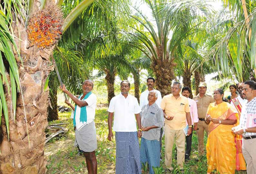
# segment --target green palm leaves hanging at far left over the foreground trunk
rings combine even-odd
[[[17,1],[4,1],[0,5],[0,112],[2,113],[2,109],[4,111],[5,124],[7,128],[7,134],[9,139],[9,118],[8,118],[8,109],[7,103],[5,100],[5,89],[3,84],[7,86],[8,94],[11,89],[12,94],[12,106],[13,106],[13,116],[15,120],[15,112],[16,112],[16,92],[20,90],[20,80],[19,80],[19,71],[16,63],[16,59],[14,56],[13,49],[18,53],[17,59],[22,62],[19,56],[19,47],[20,45],[16,45],[14,33],[12,29],[12,22],[18,20],[18,16],[21,19],[26,19],[26,7],[22,4],[21,0]],[[4,63],[4,62],[7,63]],[[6,65],[8,64],[8,65]],[[6,67],[8,67],[6,69]],[[10,75],[10,81],[7,80],[7,75]],[[1,120],[1,118],[0,118]]]

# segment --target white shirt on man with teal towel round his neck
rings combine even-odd
[[[80,96],[79,99],[81,99],[81,97],[82,96]],[[87,99],[84,99],[84,101],[88,103],[88,106],[85,106],[86,113],[87,113],[87,121],[86,122],[80,121],[80,117],[83,117],[83,116],[80,116],[81,108],[78,105],[76,105],[75,124],[76,124],[77,130],[82,128],[84,125],[91,123],[95,118],[95,109],[96,109],[96,101],[97,101],[96,95],[94,93],[91,93],[91,95]]]

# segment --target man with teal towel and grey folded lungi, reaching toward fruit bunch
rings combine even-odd
[[[83,93],[77,98],[63,85],[60,89],[65,92],[76,104],[74,109],[73,124],[75,128],[75,146],[83,151],[86,159],[88,174],[97,173],[97,149],[96,128],[94,123],[96,109],[96,95],[92,93],[94,83],[86,80],[83,83]]]

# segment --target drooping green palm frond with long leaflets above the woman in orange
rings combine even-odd
[[[245,20],[237,22],[218,41],[214,47],[214,62],[217,70],[222,71],[224,77],[230,75],[230,67],[235,66],[239,81],[243,79],[243,69],[246,61],[249,61],[251,70],[255,69],[255,30],[256,30],[256,9],[249,15],[251,34],[251,45],[247,33]],[[230,61],[231,60],[231,61]],[[247,67],[248,69],[248,67]]]

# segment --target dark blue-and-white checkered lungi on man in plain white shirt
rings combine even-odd
[[[115,132],[116,174],[141,174],[140,147],[137,132]]]

